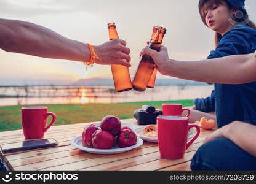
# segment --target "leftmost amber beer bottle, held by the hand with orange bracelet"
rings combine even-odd
[[[108,34],[110,40],[118,39],[118,32],[114,23],[108,23]],[[118,92],[128,91],[132,89],[129,68],[118,64],[111,64],[111,71],[114,80],[114,88]]]

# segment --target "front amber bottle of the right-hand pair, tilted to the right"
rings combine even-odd
[[[159,52],[162,39],[164,38],[164,34],[166,33],[166,29],[159,27],[157,33],[151,40],[148,48],[154,49]],[[132,81],[132,85],[134,86],[134,90],[136,91],[145,91],[148,86],[148,82],[151,79],[154,68],[156,64],[154,64],[153,59],[148,55],[143,55],[140,59],[140,63],[138,64],[137,71],[134,75],[134,80]]]

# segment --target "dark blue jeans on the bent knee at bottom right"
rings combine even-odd
[[[202,145],[190,167],[192,170],[256,170],[256,157],[231,140],[219,138]]]

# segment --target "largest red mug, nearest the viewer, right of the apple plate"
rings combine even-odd
[[[198,138],[200,128],[188,124],[187,117],[160,115],[157,117],[158,146],[162,158],[180,159],[185,151]],[[188,141],[188,131],[196,128],[196,134]]]

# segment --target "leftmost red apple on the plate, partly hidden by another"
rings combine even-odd
[[[92,148],[92,134],[98,129],[100,128],[95,125],[89,125],[84,128],[84,131],[82,132],[82,145],[84,147]]]

